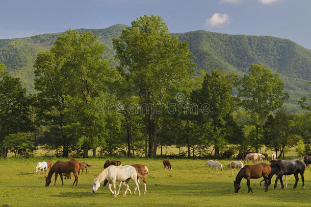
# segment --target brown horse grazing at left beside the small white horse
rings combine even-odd
[[[63,173],[70,174],[70,172],[73,172],[73,175],[74,175],[74,182],[72,186],[74,186],[74,183],[75,183],[75,187],[77,186],[77,183],[78,183],[77,171],[79,170],[80,165],[79,165],[79,162],[77,162],[77,160],[75,160],[73,157],[69,157],[69,158],[71,159],[70,161],[63,162],[61,160],[58,160],[51,167],[51,169],[48,171],[47,177],[45,177],[45,187],[48,187],[49,183],[51,183],[51,177],[53,173],[55,173],[54,187],[56,186],[56,180],[57,180],[58,174],[61,177],[62,186],[64,186]]]

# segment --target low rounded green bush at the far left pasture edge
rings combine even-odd
[[[3,141],[3,147],[14,153],[15,157],[19,155],[26,158],[33,156],[37,150],[32,132],[9,134]]]

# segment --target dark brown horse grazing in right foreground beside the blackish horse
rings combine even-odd
[[[244,168],[240,170],[238,173],[236,180],[234,181],[234,187],[235,187],[235,193],[238,193],[241,186],[241,180],[242,178],[245,178],[247,180],[247,187],[248,187],[248,193],[249,191],[253,192],[253,190],[250,188],[250,179],[257,179],[264,177],[265,179],[265,191],[268,191],[268,175],[271,172],[270,165],[266,163],[258,163],[255,165],[246,165]]]

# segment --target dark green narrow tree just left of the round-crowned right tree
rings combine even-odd
[[[215,146],[216,157],[220,155],[220,148],[227,144],[225,128],[235,108],[231,93],[236,79],[236,74],[213,71],[205,75],[202,87],[192,93],[192,103],[199,106],[198,120],[206,126],[205,134]]]

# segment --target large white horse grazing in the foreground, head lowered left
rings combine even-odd
[[[128,186],[128,178],[131,178],[136,185],[136,188],[138,189],[138,196],[140,196],[140,190],[137,182],[137,176],[141,176],[136,172],[136,169],[131,165],[124,165],[124,166],[114,166],[111,165],[105,170],[103,170],[99,175],[93,180],[93,188],[92,192],[96,193],[97,189],[100,186],[100,182],[107,179],[109,181],[109,190],[110,192],[116,197],[120,193],[120,188],[122,185],[122,182],[125,181],[124,185],[126,186],[126,190],[123,193],[123,196],[126,195],[127,191],[129,191],[129,194],[132,194],[131,190],[129,190]],[[119,189],[118,193],[116,193],[116,181],[120,181],[119,183]],[[111,185],[113,184],[114,191],[111,189]]]

